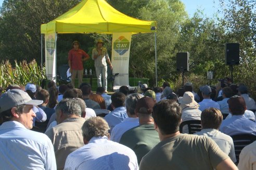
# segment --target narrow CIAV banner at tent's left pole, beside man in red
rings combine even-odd
[[[56,39],[57,34],[45,34],[45,73],[48,80],[56,82]]]

